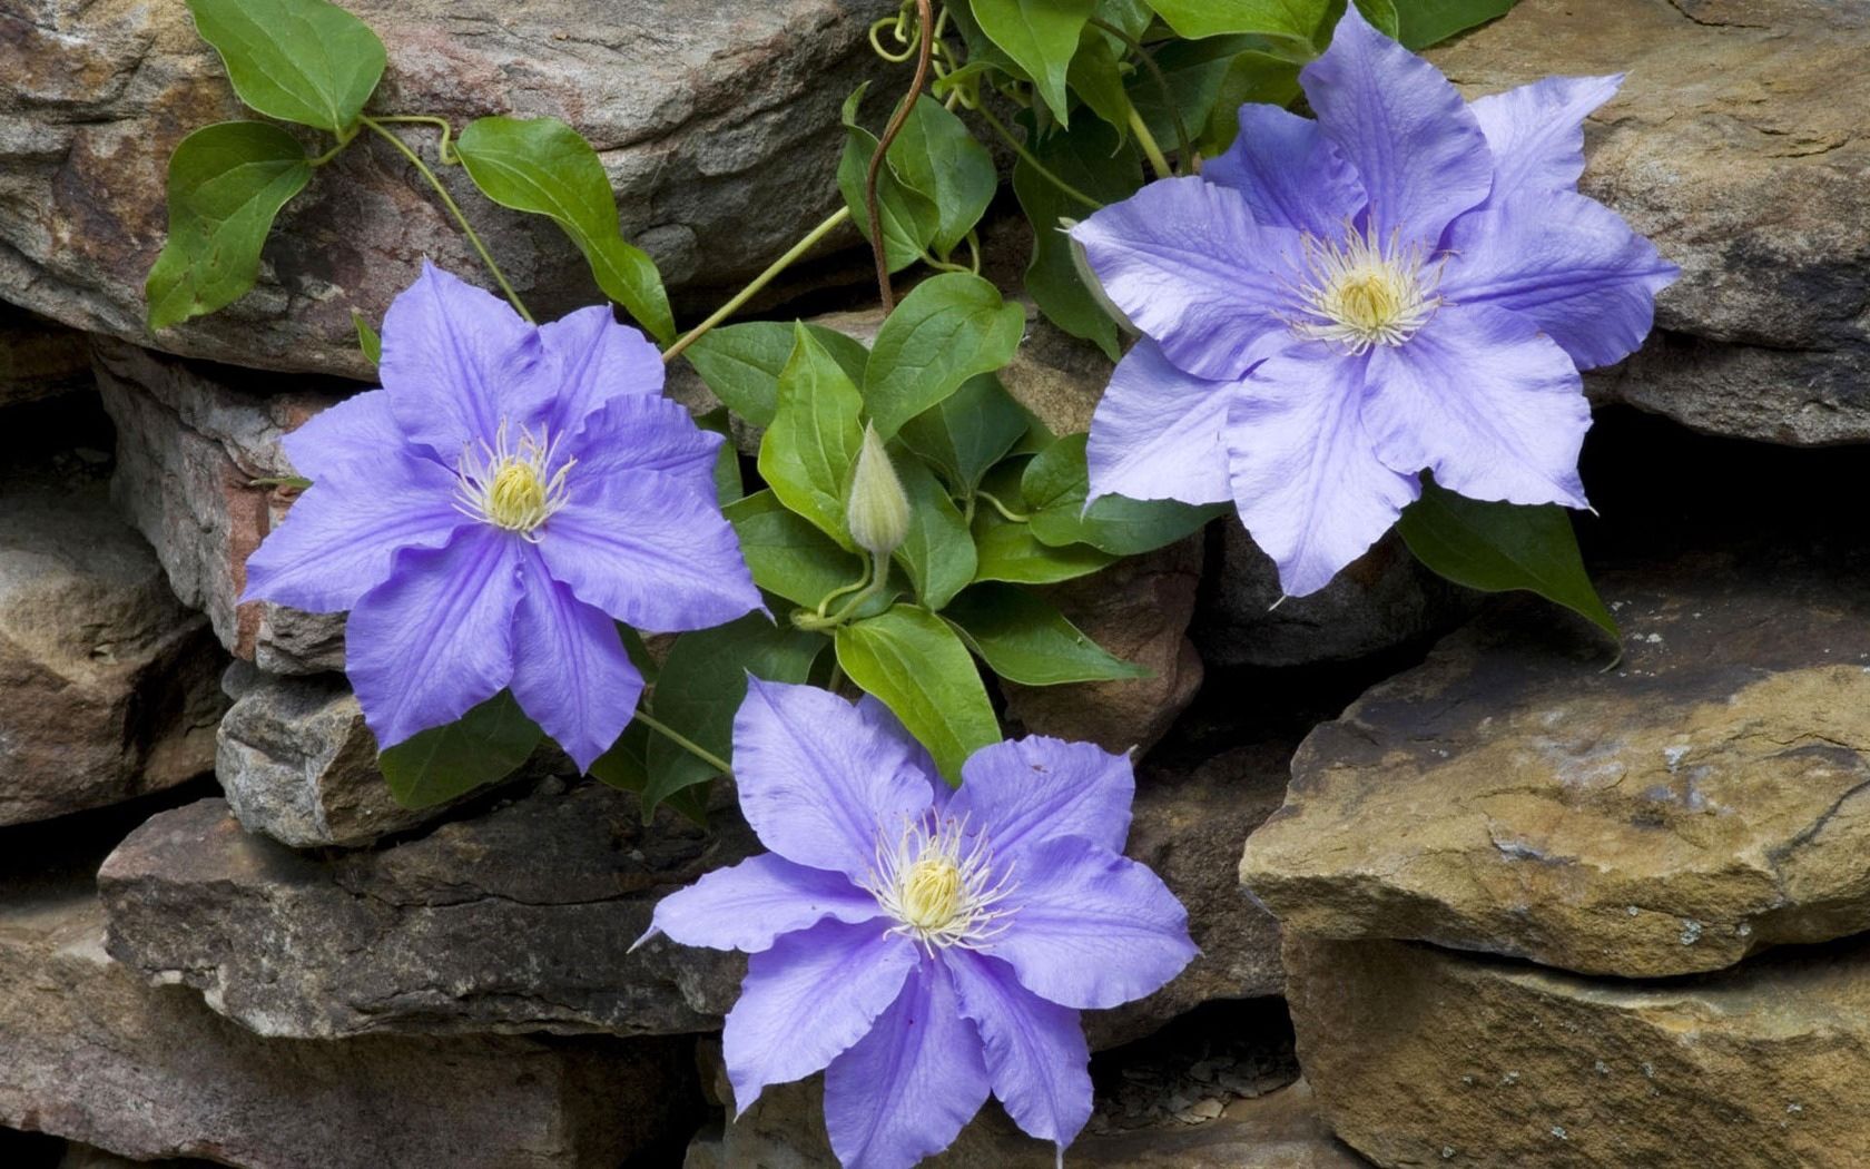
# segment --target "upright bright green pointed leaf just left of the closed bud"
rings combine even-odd
[[[780,374],[778,410],[759,440],[759,477],[780,503],[812,520],[842,548],[853,548],[843,520],[864,397],[804,325],[793,331],[793,357]]]

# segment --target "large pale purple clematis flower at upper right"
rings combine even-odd
[[[1676,266],[1576,193],[1619,77],[1466,103],[1346,6],[1316,122],[1240,108],[1201,178],[1073,228],[1144,339],[1090,425],[1090,498],[1232,499],[1300,597],[1421,494],[1588,507],[1580,368],[1631,354]]]

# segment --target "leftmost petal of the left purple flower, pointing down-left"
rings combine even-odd
[[[342,612],[389,580],[398,550],[441,548],[471,524],[454,511],[454,475],[408,445],[325,469],[247,557],[241,600]]]

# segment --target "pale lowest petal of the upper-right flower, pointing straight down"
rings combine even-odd
[[[1376,458],[1365,357],[1302,342],[1270,359],[1229,411],[1234,503],[1288,597],[1316,593],[1421,494]]]

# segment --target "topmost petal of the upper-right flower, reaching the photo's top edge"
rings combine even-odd
[[[1442,73],[1345,6],[1331,47],[1298,75],[1318,127],[1350,159],[1388,239],[1434,245],[1494,181],[1487,138]]]

